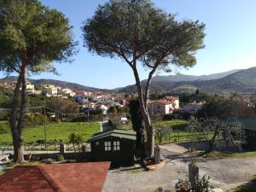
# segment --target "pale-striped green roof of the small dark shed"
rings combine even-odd
[[[136,140],[136,132],[135,131],[123,131],[123,130],[112,130],[112,131],[104,131],[98,132],[90,137],[89,142],[95,141],[98,139],[102,139],[104,137],[121,137],[130,140]]]

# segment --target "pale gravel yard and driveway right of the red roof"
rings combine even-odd
[[[150,172],[136,168],[111,170],[108,172],[103,192],[153,192],[158,187],[173,189],[177,178],[188,178],[189,156],[183,154],[187,149],[176,144],[167,144],[161,148],[161,154],[166,157],[164,167]],[[201,176],[209,175],[214,187],[224,190],[245,183],[256,175],[256,158],[199,158],[197,164]]]

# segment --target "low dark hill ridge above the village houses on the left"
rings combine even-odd
[[[15,81],[17,78],[14,76],[10,76],[8,78],[0,79],[0,81]],[[27,79],[29,82],[31,82],[34,85],[40,86],[41,84],[54,84],[55,86],[60,86],[62,89],[69,88],[71,90],[89,90],[89,91],[102,91],[102,92],[109,92],[112,90],[104,90],[104,89],[98,89],[94,87],[88,87],[84,86],[82,84],[76,84],[76,83],[70,83],[67,81],[60,81],[55,79]]]

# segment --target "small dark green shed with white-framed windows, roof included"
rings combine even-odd
[[[112,130],[96,133],[89,140],[95,161],[111,161],[114,166],[134,164],[136,132]]]

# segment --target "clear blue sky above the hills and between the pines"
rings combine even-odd
[[[55,63],[60,73],[32,75],[32,79],[58,79],[90,87],[113,89],[134,84],[131,68],[120,59],[102,57],[83,47],[81,26],[106,0],[42,0],[67,16],[79,41],[79,54],[69,63]],[[193,68],[174,68],[173,73],[202,75],[256,66],[256,1],[255,0],[153,0],[166,13],[177,14],[177,20],[200,20],[206,24],[205,49],[196,54]],[[141,79],[148,71],[139,67]],[[167,75],[160,73],[160,75]],[[5,76],[0,73],[0,78]]]

